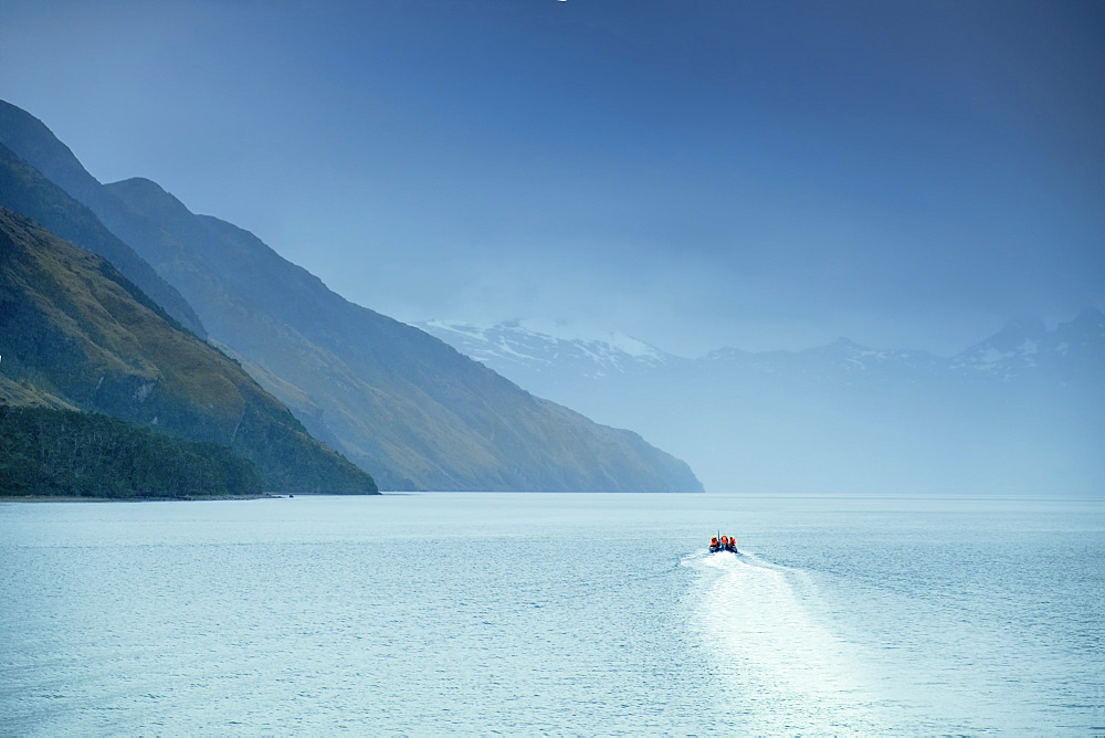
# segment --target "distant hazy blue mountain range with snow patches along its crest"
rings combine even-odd
[[[1105,316],[1010,321],[943,358],[841,338],[698,358],[515,320],[421,327],[535,392],[638,429],[707,488],[1105,491]]]

